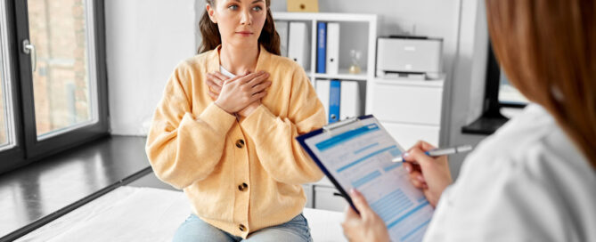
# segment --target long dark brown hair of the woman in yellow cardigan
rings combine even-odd
[[[207,4],[215,7],[216,0],[206,1]],[[278,35],[277,31],[275,31],[274,16],[271,14],[271,10],[269,9],[270,4],[271,0],[265,0],[265,5],[267,7],[267,18],[265,20],[263,30],[261,31],[261,36],[258,36],[258,44],[262,44],[267,52],[280,55],[280,35]],[[217,45],[222,44],[222,37],[219,35],[219,28],[217,28],[216,23],[209,19],[207,9],[205,12],[203,12],[203,16],[200,18],[199,29],[203,40],[199,47],[199,53],[208,52],[215,49]]]

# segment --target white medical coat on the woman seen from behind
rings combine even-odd
[[[467,157],[424,240],[596,241],[596,172],[545,109],[528,105]]]

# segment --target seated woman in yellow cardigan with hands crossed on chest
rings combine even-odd
[[[174,241],[311,241],[302,183],[322,172],[295,137],[324,109],[304,69],[279,56],[270,0],[208,0],[200,54],[167,82],[146,151],[192,214]]]

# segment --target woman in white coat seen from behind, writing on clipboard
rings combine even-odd
[[[452,183],[446,157],[419,142],[404,164],[436,206],[427,241],[596,241],[596,3],[486,0],[494,52],[529,101],[486,138]],[[416,162],[418,165],[412,165]],[[357,191],[353,241],[388,241]],[[412,226],[415,226],[412,224]]]

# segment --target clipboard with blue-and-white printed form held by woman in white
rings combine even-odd
[[[363,193],[393,241],[422,238],[434,208],[410,183],[402,163],[391,162],[404,149],[377,118],[348,118],[296,139],[356,213],[347,194],[351,188]]]

